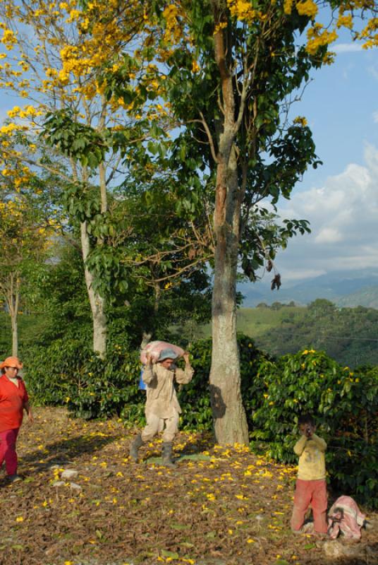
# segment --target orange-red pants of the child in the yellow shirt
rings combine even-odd
[[[295,483],[294,508],[291,516],[291,529],[300,530],[305,521],[305,513],[312,508],[315,532],[327,533],[327,482],[325,479]]]

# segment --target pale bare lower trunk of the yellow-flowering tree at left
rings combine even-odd
[[[90,254],[90,238],[87,233],[87,222],[80,225],[81,248],[83,252],[85,283],[87,285],[87,293],[90,299],[90,308],[92,310],[93,323],[93,350],[97,352],[99,357],[104,358],[106,354],[106,301],[98,292],[93,289],[94,277],[86,266],[87,256]]]

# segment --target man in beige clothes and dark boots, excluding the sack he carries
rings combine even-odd
[[[158,432],[163,432],[163,465],[173,467],[173,439],[178,432],[178,418],[181,408],[178,404],[174,381],[179,384],[190,383],[193,368],[190,366],[189,353],[185,351],[185,369],[178,369],[174,364],[178,354],[167,347],[161,350],[157,361],[153,362],[150,352],[146,353],[146,365],[143,371],[143,382],[147,385],[145,415],[147,425],[130,446],[130,458],[138,461],[138,449],[151,441]]]

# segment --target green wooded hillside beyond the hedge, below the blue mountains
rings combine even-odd
[[[242,308],[238,311],[238,331],[249,335],[255,345],[270,355],[313,347],[324,350],[337,362],[357,367],[378,365],[378,310],[356,307],[338,309],[318,299],[310,307]],[[211,335],[209,324],[197,337]]]

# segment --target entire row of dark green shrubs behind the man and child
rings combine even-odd
[[[298,415],[312,412],[328,444],[331,483],[339,492],[378,507],[378,367],[353,373],[314,350],[274,360],[245,335],[238,343],[252,448],[295,463]],[[195,376],[178,390],[181,429],[212,429],[211,340],[194,343],[191,353]],[[66,404],[73,415],[87,419],[118,415],[129,425],[144,423],[138,352],[112,344],[102,360],[83,343],[59,340],[29,350],[24,361],[35,403]]]

